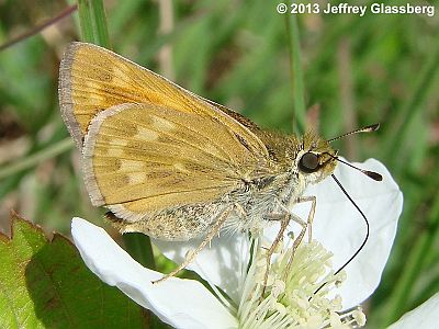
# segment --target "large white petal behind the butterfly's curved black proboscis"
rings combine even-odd
[[[346,268],[347,280],[338,292],[342,297],[344,309],[363,302],[379,285],[403,206],[403,195],[382,163],[369,159],[353,164],[381,173],[383,181],[375,182],[342,163],[335,171],[335,175],[364,213],[371,230],[364,248]],[[317,197],[313,238],[334,252],[334,269],[337,270],[360,247],[367,234],[365,223],[331,178],[309,186],[304,195]],[[293,212],[301,218],[307,218],[309,206],[297,204]],[[272,228],[268,234],[272,237],[277,229]]]

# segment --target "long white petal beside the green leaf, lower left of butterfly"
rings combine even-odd
[[[87,266],[137,304],[176,328],[236,328],[237,320],[201,283],[171,277],[153,285],[161,273],[145,269],[102,228],[74,218],[71,235]]]

